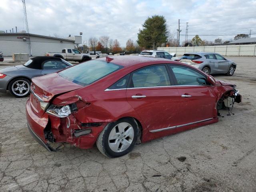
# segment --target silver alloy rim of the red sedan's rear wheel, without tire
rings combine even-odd
[[[133,127],[126,122],[122,122],[112,128],[108,136],[108,145],[114,152],[122,152],[132,144],[134,138]]]

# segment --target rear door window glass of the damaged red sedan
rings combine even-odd
[[[133,73],[131,88],[170,86],[165,66],[151,66]]]

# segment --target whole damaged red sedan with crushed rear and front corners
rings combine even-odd
[[[218,121],[218,109],[241,96],[236,86],[180,62],[113,56],[32,79],[28,129],[51,142],[104,155],[127,154],[139,142]]]

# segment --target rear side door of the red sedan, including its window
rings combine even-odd
[[[126,99],[152,132],[176,126],[179,122],[180,96],[176,87],[171,86],[165,64],[134,71]]]

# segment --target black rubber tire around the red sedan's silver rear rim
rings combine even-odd
[[[117,128],[117,127],[118,127],[118,125],[120,125],[120,123],[130,124],[130,126],[132,127],[132,129],[134,131],[134,136],[132,139],[127,137],[131,143],[128,148],[126,148],[125,150],[120,151],[120,152],[115,152],[114,150],[112,150],[110,148],[110,141],[112,141],[112,140],[110,140],[109,136],[110,136],[110,132],[112,132],[112,130],[115,132],[118,130],[118,132],[116,132],[116,134],[119,133],[119,128]],[[128,128],[130,128],[130,126]],[[124,132],[124,134],[127,133],[127,130]],[[117,145],[120,146],[120,144],[121,144],[120,149],[122,149],[122,145],[123,145],[122,141],[123,140],[128,141],[127,138],[123,137],[123,136],[125,136],[124,134],[120,133],[120,137],[118,136],[118,138],[114,139],[115,142],[113,142],[113,144],[115,145],[115,143],[117,143],[117,140],[119,141],[119,139],[120,139],[119,144],[116,144],[116,146]],[[96,145],[97,145],[98,150],[105,156],[110,157],[110,158],[120,157],[120,156],[123,156],[123,155],[129,153],[134,148],[134,145],[136,144],[137,139],[138,139],[138,135],[139,135],[139,127],[138,127],[136,120],[134,120],[133,118],[122,118],[116,122],[111,122],[108,125],[106,125],[106,127],[102,130],[102,132],[98,136]],[[118,147],[117,150],[120,150],[120,149]]]

